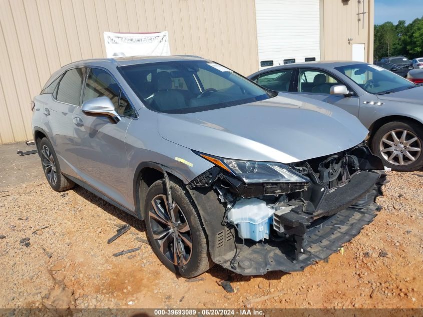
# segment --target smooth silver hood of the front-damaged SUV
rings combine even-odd
[[[282,95],[282,96],[281,96]],[[291,163],[346,150],[368,131],[335,106],[296,96],[188,114],[159,114],[162,138],[225,158]]]

